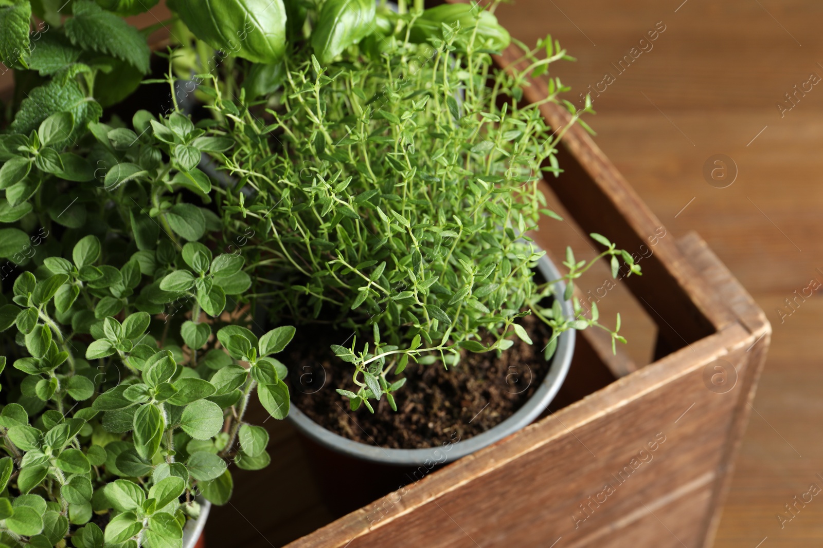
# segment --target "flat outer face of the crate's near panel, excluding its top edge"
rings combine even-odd
[[[739,369],[740,375],[746,374],[745,364]],[[565,545],[602,529],[612,531],[611,537],[624,541],[623,546],[630,546],[625,544],[627,535],[641,530],[647,534],[633,546],[661,546],[656,519],[643,519],[640,529],[636,521],[625,523],[625,517],[643,518],[639,510],[657,506],[656,501],[670,498],[672,490],[681,486],[706,488],[714,481],[737,398],[733,389],[728,394],[709,391],[703,370],[696,367],[554,443],[452,490],[352,541],[351,548],[388,543],[537,547],[560,536]],[[673,527],[688,530],[681,541],[690,546],[704,535],[700,524],[709,511],[709,498],[701,500],[699,515],[686,518],[688,513],[676,513],[670,520]],[[690,507],[690,502],[673,500],[670,505],[680,509]]]

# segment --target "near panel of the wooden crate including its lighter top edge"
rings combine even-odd
[[[289,546],[475,546],[477,537],[481,546],[548,546],[552,534],[574,540],[621,523],[721,466],[737,398],[709,391],[703,370],[718,357],[737,360],[726,349],[740,352],[750,337],[731,326]],[[658,433],[666,440],[652,459],[625,471]],[[575,521],[611,474],[628,479]],[[705,516],[690,523],[704,535]]]

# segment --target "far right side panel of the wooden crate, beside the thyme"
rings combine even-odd
[[[510,46],[497,59],[501,67],[512,67],[518,58],[520,50]],[[530,81],[524,89],[524,100],[528,103],[536,103],[547,95],[546,82],[540,79]],[[540,109],[551,127],[564,127],[570,121],[570,114],[559,105],[542,104]],[[641,245],[648,247],[649,237],[654,237],[663,223],[629,187],[583,127],[570,127],[563,143],[565,149],[559,151],[558,160],[564,173],[558,178],[549,177],[547,182],[565,208],[587,233],[607,234],[629,251],[639,250]],[[654,255],[644,260],[643,266],[648,277],[632,277],[626,282],[649,315],[661,320],[661,332],[675,348],[735,321],[723,303],[704,291],[673,238],[660,239]],[[671,311],[678,313],[672,315]]]

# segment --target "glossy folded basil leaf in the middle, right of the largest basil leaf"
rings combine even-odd
[[[311,44],[319,62],[328,65],[344,49],[374,32],[375,3],[370,0],[327,0],[320,8]]]

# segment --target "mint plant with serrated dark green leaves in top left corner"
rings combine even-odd
[[[150,50],[145,34],[120,15],[156,3],[0,2],[0,62],[16,76],[16,112],[13,118],[7,112],[12,131],[28,135],[51,114],[71,113],[75,123],[59,137],[77,140],[104,107],[136,90],[149,71]]]

